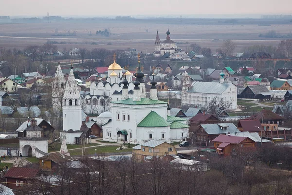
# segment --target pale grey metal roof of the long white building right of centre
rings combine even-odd
[[[224,82],[193,82],[193,87],[187,92],[191,93],[205,93],[205,94],[222,94],[228,89],[232,83]]]

